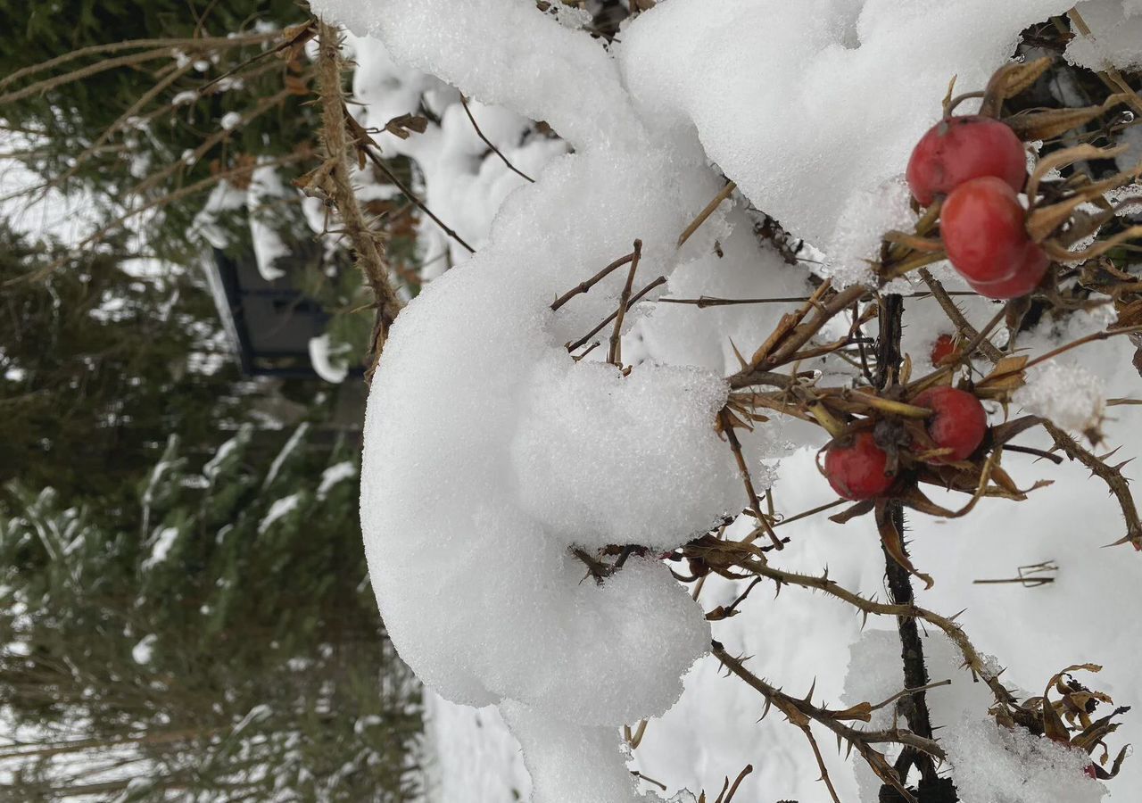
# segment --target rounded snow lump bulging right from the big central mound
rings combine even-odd
[[[722,383],[692,368],[624,378],[605,363],[569,362],[556,353],[537,367],[512,440],[520,505],[545,531],[582,547],[665,551],[677,546],[671,533],[708,530],[731,512],[724,490],[737,477],[711,427]],[[662,504],[671,493],[682,498]],[[724,501],[711,508],[710,498]]]

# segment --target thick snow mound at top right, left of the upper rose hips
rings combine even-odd
[[[825,244],[854,192],[901,172],[954,75],[981,89],[1020,31],[1071,5],[670,0],[618,54],[648,117],[697,128],[759,209]]]

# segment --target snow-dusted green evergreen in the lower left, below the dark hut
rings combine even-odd
[[[13,488],[0,696],[31,734],[0,750],[13,800],[415,796],[419,691],[368,587],[356,464],[307,432],[254,466],[243,427],[201,471],[171,437],[142,532]]]

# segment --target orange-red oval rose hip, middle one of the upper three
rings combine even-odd
[[[1026,217],[1015,191],[1002,179],[989,176],[960,184],[941,212],[948,259],[968,281],[1011,279],[1030,242]]]

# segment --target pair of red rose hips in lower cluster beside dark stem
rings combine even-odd
[[[912,444],[916,451],[950,450],[932,463],[966,460],[987,434],[988,417],[980,400],[955,387],[932,387],[910,402],[932,410],[925,420],[933,447]],[[833,490],[845,499],[861,500],[884,496],[896,477],[890,473],[888,452],[868,429],[833,441],[825,452],[825,476]]]

